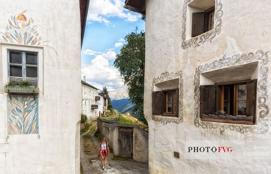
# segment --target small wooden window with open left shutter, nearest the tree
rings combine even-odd
[[[152,113],[178,117],[179,89],[152,92]]]

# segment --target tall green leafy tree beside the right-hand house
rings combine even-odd
[[[139,120],[147,125],[143,114],[144,72],[145,72],[145,32],[135,32],[125,36],[126,44],[120,49],[114,61],[123,82],[128,86],[128,94],[136,104],[132,113],[139,115]]]

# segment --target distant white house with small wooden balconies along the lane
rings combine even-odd
[[[81,80],[82,86],[82,114],[88,117],[88,121],[101,117],[107,110],[107,97],[99,93],[99,89],[86,83],[86,76]]]

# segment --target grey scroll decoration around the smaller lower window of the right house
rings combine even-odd
[[[178,118],[168,118],[168,117],[162,117],[162,116],[154,116],[152,114],[152,120],[160,122],[161,124],[167,124],[167,123],[182,123],[183,122],[183,79],[182,79],[182,71],[178,71],[176,73],[165,71],[158,76],[157,78],[153,79],[151,91],[154,90],[154,85],[163,81],[171,80],[179,78],[179,117]]]

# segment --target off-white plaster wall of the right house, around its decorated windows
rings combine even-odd
[[[146,0],[146,59],[144,114],[149,125],[149,172],[150,173],[267,173],[271,170],[270,157],[249,157],[244,159],[239,151],[247,151],[250,145],[271,147],[270,130],[265,134],[238,133],[226,129],[223,134],[215,129],[195,127],[193,107],[195,69],[214,60],[232,57],[234,54],[264,52],[271,49],[270,22],[271,6],[268,0],[261,2],[221,0],[223,5],[221,32],[212,42],[207,41],[197,47],[183,49],[182,45],[182,13],[184,1]],[[270,56],[270,53],[268,53]],[[267,65],[270,67],[270,63]],[[256,68],[255,71],[260,69]],[[165,72],[183,73],[183,122],[179,124],[161,124],[152,120],[151,87],[154,78]],[[267,90],[270,96],[270,75],[268,72]],[[253,73],[260,78],[260,73]],[[208,81],[207,81],[208,82]],[[270,107],[270,99],[266,101]],[[257,107],[256,107],[257,108]],[[256,119],[259,118],[257,108]],[[270,127],[270,114],[266,116]],[[256,121],[256,124],[257,121]],[[254,127],[254,126],[252,126]],[[270,129],[270,128],[269,128]],[[187,157],[187,142],[223,141],[223,145],[233,145],[232,154],[223,154],[220,158],[206,153],[204,159]],[[219,144],[214,144],[219,145]],[[238,150],[237,150],[238,149]],[[180,153],[180,159],[173,157],[173,151]],[[195,154],[196,158],[197,154]]]

